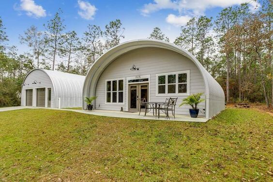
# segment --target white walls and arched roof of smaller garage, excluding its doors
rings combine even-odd
[[[61,107],[81,107],[82,106],[82,88],[85,76],[68,74],[59,71],[34,69],[26,76],[24,86],[22,87],[21,105],[24,105],[24,90],[33,90],[33,106],[36,106],[36,90],[35,88],[51,88],[51,107],[59,106],[59,98],[61,99]],[[41,82],[32,84],[36,80]],[[28,85],[29,84],[29,85]],[[47,92],[47,89],[46,89]]]

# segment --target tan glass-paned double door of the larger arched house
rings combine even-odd
[[[146,99],[148,102],[149,98],[149,83],[139,83],[129,85],[129,111],[139,111],[144,106],[139,107],[139,99]]]

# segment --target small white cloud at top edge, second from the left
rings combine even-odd
[[[80,8],[78,15],[87,20],[94,19],[93,16],[97,11],[97,8],[94,5],[91,5],[89,2],[83,0],[78,0],[78,5]]]

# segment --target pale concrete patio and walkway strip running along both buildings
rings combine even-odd
[[[176,115],[175,119],[173,116],[170,116],[170,119],[166,119],[164,114],[160,115],[160,119],[155,118],[152,113],[147,113],[144,117],[144,112],[141,112],[138,115],[138,112],[121,112],[121,111],[110,111],[110,110],[75,110],[75,109],[59,109],[59,108],[46,108],[46,107],[30,107],[30,106],[16,106],[16,107],[2,107],[1,111],[9,111],[9,110],[17,110],[17,109],[55,109],[55,110],[66,110],[66,111],[74,111],[84,114],[92,114],[97,116],[107,116],[107,117],[117,117],[117,118],[132,118],[132,119],[142,119],[142,120],[166,120],[166,121],[191,121],[191,122],[206,122],[208,119],[204,117],[191,118],[187,115]]]

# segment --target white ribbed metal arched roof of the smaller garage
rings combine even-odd
[[[50,78],[56,100],[58,100],[58,98],[61,98],[61,107],[82,105],[81,98],[85,76],[63,73],[60,71],[45,70],[40,68],[35,68],[31,70],[27,74],[27,76],[34,70],[41,70],[45,72],[45,74]],[[25,79],[27,78],[27,76],[25,77]]]

